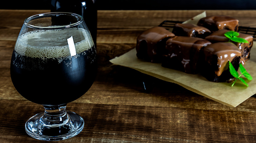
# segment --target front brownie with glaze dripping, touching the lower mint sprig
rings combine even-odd
[[[209,81],[225,82],[233,76],[229,72],[228,61],[231,61],[238,70],[241,52],[239,48],[231,42],[218,42],[204,47],[202,52],[201,73]]]

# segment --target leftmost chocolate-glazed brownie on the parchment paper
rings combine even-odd
[[[175,36],[163,27],[153,27],[137,37],[137,57],[150,62],[161,62],[167,39]]]

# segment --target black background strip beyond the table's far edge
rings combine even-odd
[[[96,0],[96,4],[98,10],[256,9],[256,0]],[[0,9],[50,7],[51,0],[3,0],[0,4]]]

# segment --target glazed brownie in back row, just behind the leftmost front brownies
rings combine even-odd
[[[175,24],[172,33],[176,36],[197,37],[204,39],[211,34],[211,31],[205,27],[195,24]]]

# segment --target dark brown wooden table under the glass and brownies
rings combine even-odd
[[[24,99],[10,78],[12,50],[25,18],[49,10],[0,10],[0,142],[43,142],[28,136],[25,122],[43,106]],[[145,92],[140,74],[111,66],[110,59],[135,48],[137,36],[163,20],[185,21],[203,10],[98,11],[98,74],[90,90],[67,110],[85,120],[83,131],[59,141],[90,143],[255,142],[256,99],[235,108],[181,86],[149,77]],[[224,14],[240,25],[256,27],[255,10],[207,10]],[[40,92],[40,91],[38,91]],[[36,93],[35,93],[36,96]]]

